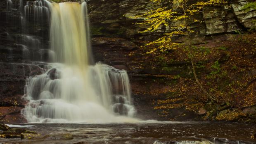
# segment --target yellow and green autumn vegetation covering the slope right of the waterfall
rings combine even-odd
[[[197,113],[200,108],[205,111],[206,103],[212,101],[210,105],[214,108],[206,110],[207,113],[199,112],[205,114],[205,120],[244,120],[247,114],[242,113],[243,107],[256,104],[255,33],[241,34],[237,31],[238,36],[222,43],[216,39],[199,40],[190,24],[204,21],[197,18],[199,13],[205,12],[203,7],[223,6],[224,0],[152,2],[159,7],[136,16],[145,19],[137,24],[147,25],[148,28],[142,32],[155,32],[161,27],[167,29],[162,37],[143,47],[145,54],[158,59],[167,69],[168,64],[188,62],[194,75],[194,79],[178,75],[178,81],[171,86],[166,100],[157,101],[155,109],[163,110],[164,115],[168,114],[166,110],[179,107]],[[166,7],[166,3],[169,6]],[[252,8],[253,3],[248,3],[244,9]],[[228,108],[229,114],[219,114]],[[255,117],[255,114],[250,117]]]

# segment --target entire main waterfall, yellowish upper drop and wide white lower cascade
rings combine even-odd
[[[124,70],[90,65],[86,3],[48,3],[53,62],[26,81],[28,122],[131,122],[135,114]],[[130,117],[130,118],[129,118]]]

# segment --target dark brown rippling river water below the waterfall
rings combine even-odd
[[[256,124],[224,122],[29,123],[33,139],[0,139],[4,144],[256,144]],[[60,135],[72,135],[64,139]]]

